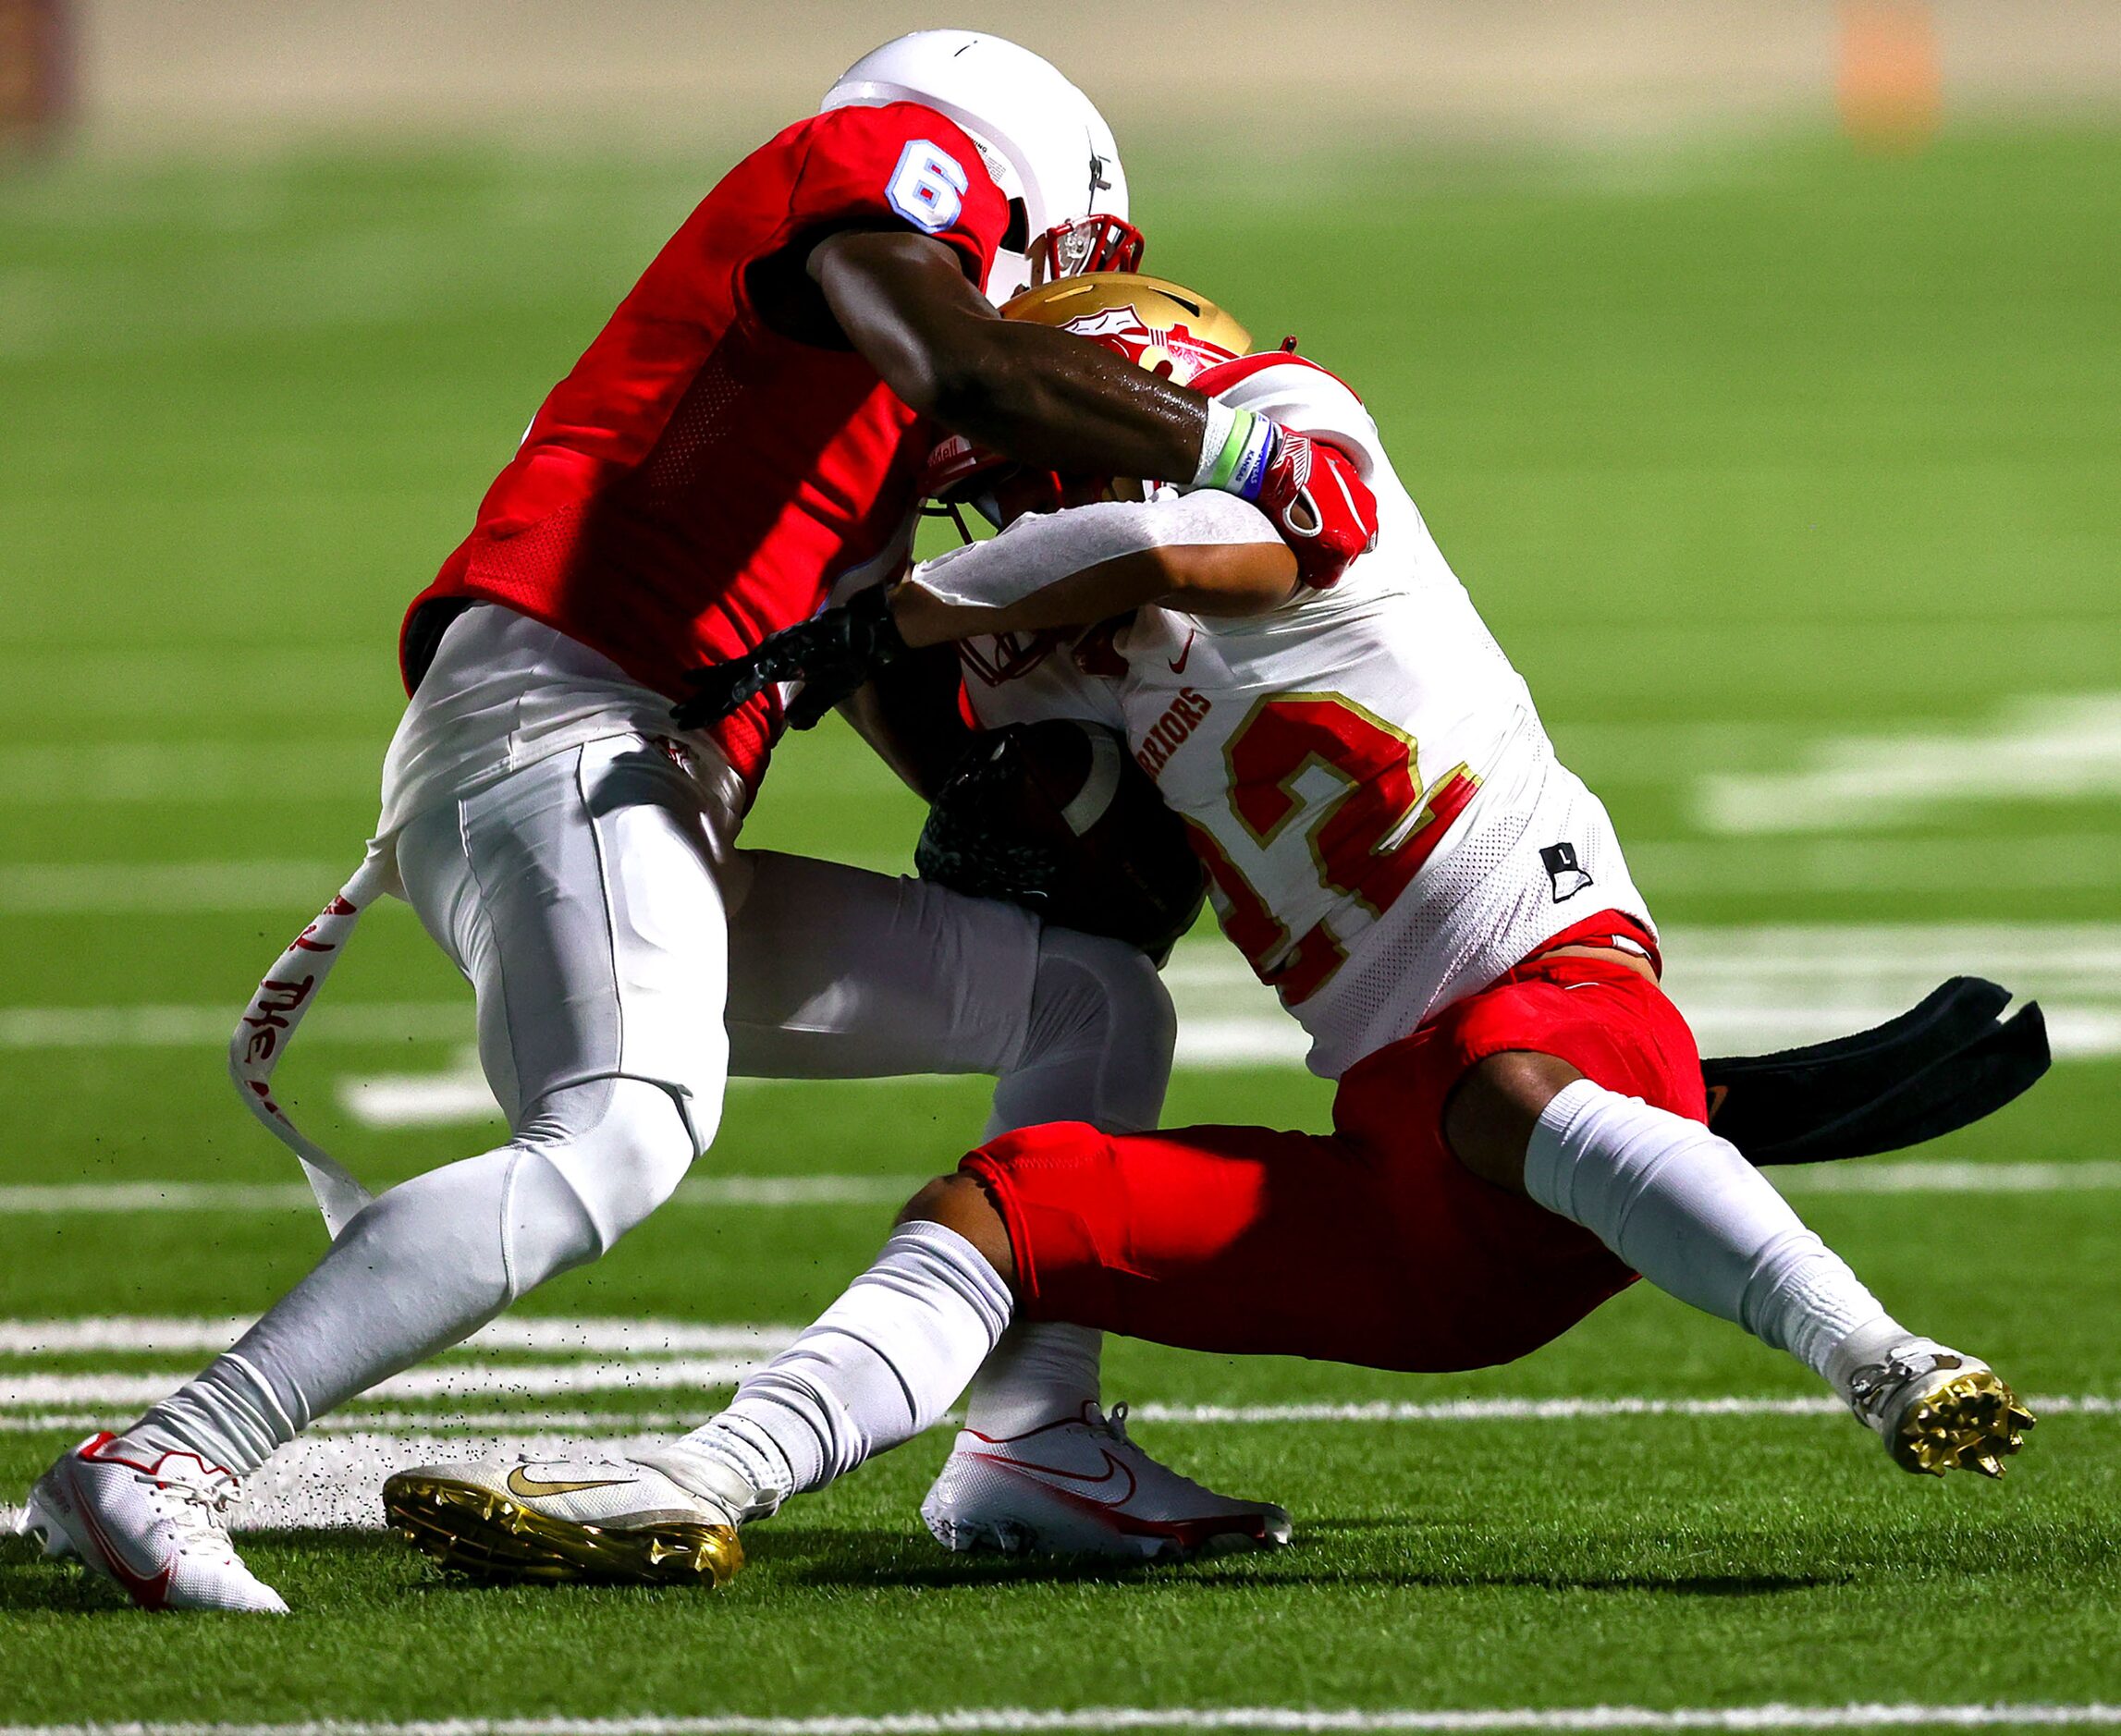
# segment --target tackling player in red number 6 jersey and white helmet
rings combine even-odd
[[[373,1202],[299,1142],[331,1251],[197,1380],[53,1467],[28,1513],[51,1552],[144,1602],[284,1609],[223,1524],[242,1477],[647,1217],[713,1140],[732,1062],[986,1070],[997,1126],[1154,1123],[1169,1007],[1139,958],[738,852],[778,699],[702,729],[670,710],[691,672],[897,570],[942,430],[1290,511],[1302,435],[997,316],[1035,278],[1130,265],[1124,214],[1111,134],[1052,66],[921,32],[857,61],[664,246],[407,613],[411,702],[369,858],[235,1051],[297,1140],[269,1066],[344,924],[401,892],[477,992],[511,1138]],[[1073,1427],[1103,1427],[1094,1338],[1018,1350],[1048,1405],[1075,1395]],[[1211,1528],[1273,1530],[1275,1509],[1171,1492]]]

